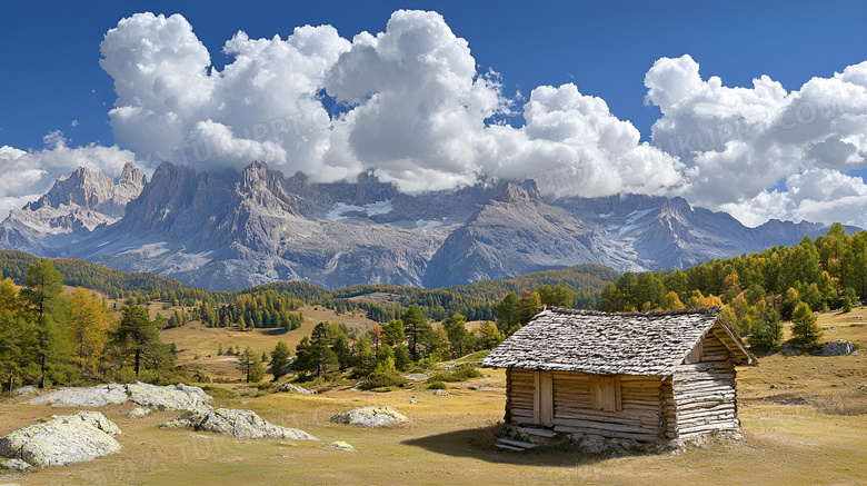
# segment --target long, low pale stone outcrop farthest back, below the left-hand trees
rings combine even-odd
[[[212,398],[195,386],[155,386],[136,381],[128,385],[98,385],[89,388],[59,388],[32,398],[29,404],[50,404],[53,407],[103,407],[132,401],[157,410],[187,410],[199,408]]]

